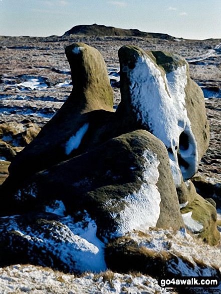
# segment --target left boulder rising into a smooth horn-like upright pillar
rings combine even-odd
[[[90,124],[103,123],[104,113],[113,112],[113,90],[101,54],[81,43],[68,46],[65,53],[71,67],[72,93],[36,139],[10,165],[9,180],[14,181],[14,186],[26,175],[81,153],[83,137]]]

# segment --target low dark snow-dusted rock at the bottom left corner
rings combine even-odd
[[[65,272],[106,269],[103,244],[91,219],[29,213],[0,218],[0,266],[35,264]]]

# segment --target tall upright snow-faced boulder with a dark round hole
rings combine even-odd
[[[135,116],[166,146],[176,186],[191,178],[208,147],[204,97],[176,55],[124,46],[119,52],[120,114]],[[117,113],[116,113],[117,114]]]

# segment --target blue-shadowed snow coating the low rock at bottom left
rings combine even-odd
[[[29,225],[22,227],[19,215],[0,218],[0,232],[4,230],[6,223],[7,231],[17,231],[41,250],[46,246],[47,250],[58,255],[70,270],[100,272],[107,268],[104,260],[104,244],[96,236],[95,221],[86,212],[82,222],[75,223],[71,216],[67,216],[61,218],[59,222],[46,222],[42,225],[41,232]]]

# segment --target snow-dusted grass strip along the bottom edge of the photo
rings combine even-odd
[[[164,289],[157,280],[146,275],[102,272],[85,273],[77,277],[34,265],[12,265],[0,268],[0,288],[4,294],[28,292],[32,294],[154,294]],[[174,291],[170,293],[175,294]]]

